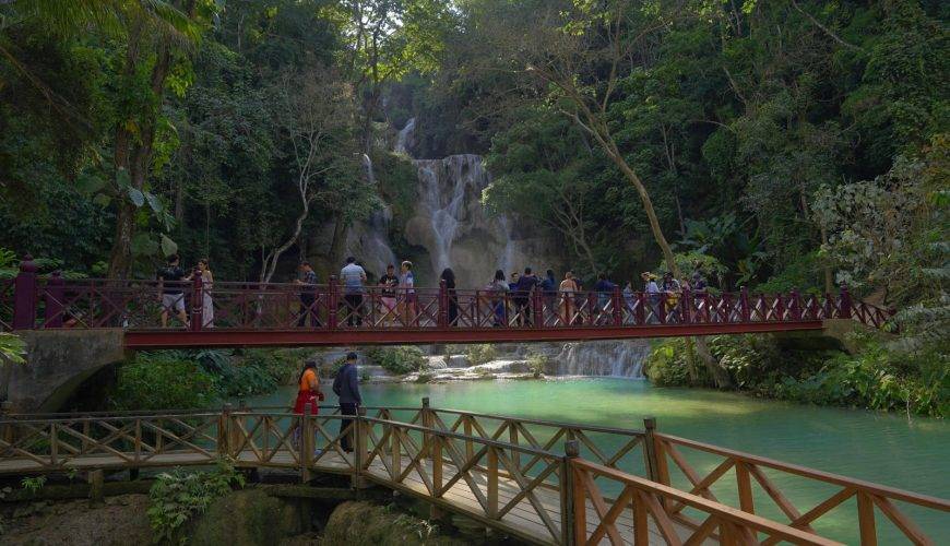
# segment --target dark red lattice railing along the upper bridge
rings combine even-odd
[[[32,262],[29,262],[32,263]],[[889,311],[840,295],[738,293],[494,292],[324,285],[37,277],[24,262],[0,281],[0,329],[480,330],[796,323],[853,318],[880,327]],[[33,268],[35,270],[35,268]],[[183,309],[186,322],[180,321]]]

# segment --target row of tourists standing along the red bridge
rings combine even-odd
[[[192,281],[195,276],[200,276],[202,281],[202,328],[214,328],[212,296],[214,275],[212,275],[207,259],[198,260],[194,268],[186,271],[181,268],[177,254],[168,257],[166,266],[158,270],[163,328],[167,327],[169,317],[177,318],[186,327],[189,325],[183,283]],[[706,290],[705,277],[698,264],[689,278],[677,280],[669,272],[660,277],[649,271],[643,272],[640,277],[643,281],[642,290],[648,295],[648,302],[653,311],[648,316],[650,322],[660,321],[661,300],[665,301],[666,309],[675,310],[685,289],[698,294]],[[346,259],[346,263],[340,270],[340,281],[343,292],[343,316],[347,327],[361,327],[370,311],[375,317],[380,317],[377,322],[381,325],[416,323],[419,309],[411,261],[406,260],[400,263],[399,271],[394,264],[388,264],[385,273],[380,275],[375,283],[376,294],[373,297],[367,298],[369,275],[355,257],[351,256]],[[439,281],[448,292],[448,325],[458,325],[460,306],[454,271],[451,268],[446,268],[439,275]],[[317,305],[318,277],[310,262],[300,263],[299,276],[294,280],[294,284],[299,287],[298,297],[300,300],[297,325],[300,328],[322,327],[321,306]],[[589,296],[583,293],[581,280],[572,271],[566,271],[563,278],[557,282],[554,270],[549,269],[543,276],[538,276],[532,268],[525,268],[523,272],[514,271],[509,276],[506,276],[503,270],[497,270],[494,277],[488,281],[476,297],[484,298],[485,304],[487,304],[494,327],[532,327],[535,325],[535,321],[543,324],[545,317],[535,317],[539,310],[542,312],[547,310],[548,317],[557,313],[556,318],[560,324],[573,324],[582,320],[582,311],[602,317],[602,311],[609,308],[617,288],[618,285],[611,282],[605,273],[598,274],[593,286],[596,297],[592,300],[594,302],[590,302],[586,301]],[[666,295],[665,298],[662,298],[662,294]],[[542,299],[541,309],[535,309],[532,304],[535,297]],[[624,287],[622,297],[627,309],[632,310],[634,308],[632,282],[628,282]],[[594,305],[597,306],[596,309],[592,309]],[[480,321],[482,318],[477,320]],[[672,311],[667,313],[664,321],[675,320],[677,320],[676,311]]]

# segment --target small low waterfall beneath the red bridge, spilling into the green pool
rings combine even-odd
[[[643,360],[650,353],[645,341],[566,343],[553,358],[558,376],[613,376],[643,378]]]

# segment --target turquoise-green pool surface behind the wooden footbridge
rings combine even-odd
[[[330,390],[329,388],[326,389]],[[250,405],[289,403],[293,388],[248,399]],[[546,381],[460,381],[441,384],[366,384],[367,405],[418,406],[423,396],[440,408],[642,428],[644,416],[655,416],[666,434],[746,451],[827,472],[890,485],[916,492],[950,498],[950,424],[929,418],[909,420],[905,415],[842,410],[763,401],[698,389],[653,387],[626,379],[555,379]],[[325,404],[334,404],[328,393]],[[544,439],[538,438],[544,441]],[[609,437],[594,437],[604,450],[618,449]],[[705,475],[721,460],[680,451]],[[639,454],[638,458],[642,458]],[[670,465],[673,463],[670,462]],[[640,459],[631,470],[642,474]],[[687,482],[674,471],[674,485]],[[801,513],[838,489],[815,482],[767,472]],[[679,478],[679,479],[677,479]],[[753,483],[756,509],[767,518],[787,521]],[[734,503],[732,471],[713,492]],[[937,544],[950,543],[950,514],[916,510],[899,503]],[[854,499],[826,515],[819,533],[856,544]],[[902,544],[891,523],[878,514],[881,544]]]

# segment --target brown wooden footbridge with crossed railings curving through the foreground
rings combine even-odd
[[[947,538],[907,514],[946,522],[950,501],[661,434],[653,419],[640,430],[597,427],[437,410],[427,399],[356,416],[317,410],[7,415],[0,475],[229,458],[305,482],[349,476],[354,488],[401,491],[537,544],[831,545],[824,518],[854,505],[845,532],[862,545],[877,544],[883,522],[912,544]],[[786,496],[795,480],[818,484],[822,498]]]

